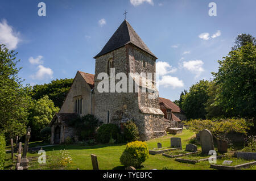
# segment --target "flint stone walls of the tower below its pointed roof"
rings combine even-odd
[[[133,120],[137,125],[141,140],[150,140],[151,138],[160,137],[166,135],[164,114],[162,112],[148,112],[146,108],[152,108],[152,110],[159,109],[159,98],[147,99],[148,92],[113,92],[110,93],[110,81],[115,83],[119,80],[109,79],[109,93],[100,93],[97,90],[98,74],[108,72],[108,61],[113,58],[113,66],[115,68],[115,75],[117,73],[126,73],[128,77],[129,72],[152,71],[155,72],[155,62],[153,62],[152,56],[132,45],[126,45],[125,47],[113,50],[103,56],[96,58],[95,66],[95,116],[108,123],[108,111],[109,111],[109,123],[120,125],[122,120]],[[147,69],[143,70],[143,60],[148,64]],[[155,61],[155,60],[154,60]],[[138,66],[140,68],[138,68]],[[127,91],[129,81],[127,81]],[[135,89],[135,86],[133,86]],[[141,87],[140,87],[141,89]],[[141,91],[141,90],[140,90]],[[160,111],[160,109],[159,109]]]

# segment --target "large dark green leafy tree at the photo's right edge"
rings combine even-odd
[[[226,116],[256,115],[256,45],[247,43],[218,61],[216,104]]]

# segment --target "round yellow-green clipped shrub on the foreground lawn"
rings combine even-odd
[[[126,149],[120,157],[120,162],[125,166],[141,167],[148,158],[148,149],[145,142],[134,141],[126,145]]]

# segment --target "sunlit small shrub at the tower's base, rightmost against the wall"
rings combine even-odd
[[[127,142],[139,140],[139,131],[137,125],[133,123],[133,121],[127,121],[123,126],[125,128],[123,132]]]

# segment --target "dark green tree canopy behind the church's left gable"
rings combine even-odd
[[[49,99],[53,101],[55,106],[61,107],[64,103],[65,97],[72,85],[73,78],[71,79],[56,79],[51,83],[45,83],[44,85],[35,85],[31,91],[33,99],[38,100],[48,95]]]

